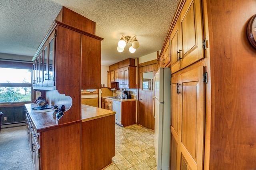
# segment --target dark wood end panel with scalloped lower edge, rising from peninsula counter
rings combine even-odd
[[[58,36],[60,35],[60,36]],[[81,89],[80,89],[80,53],[81,34],[79,32],[58,26],[56,38],[56,89],[60,94],[72,98],[72,107],[59,119],[66,123],[81,119]],[[68,58],[68,62],[66,61]]]

